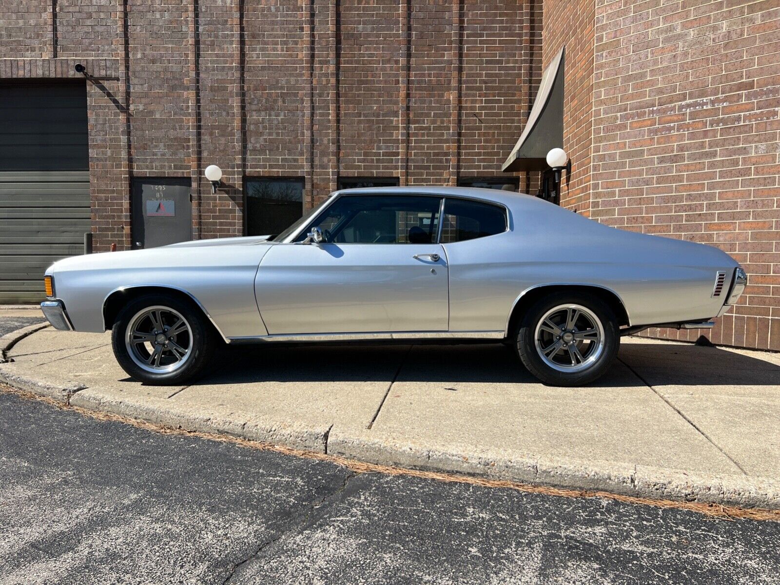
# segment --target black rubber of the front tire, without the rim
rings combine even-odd
[[[178,311],[190,324],[192,335],[192,352],[187,358],[186,363],[176,371],[155,374],[147,372],[140,368],[133,358],[130,357],[126,343],[125,335],[130,321],[141,310],[154,305],[170,307]],[[193,378],[200,373],[204,367],[204,354],[211,345],[211,335],[207,326],[204,324],[200,310],[194,306],[194,303],[186,302],[173,295],[149,294],[139,296],[129,301],[116,317],[112,327],[112,347],[114,355],[122,370],[126,371],[131,377],[150,385],[174,385]]]

